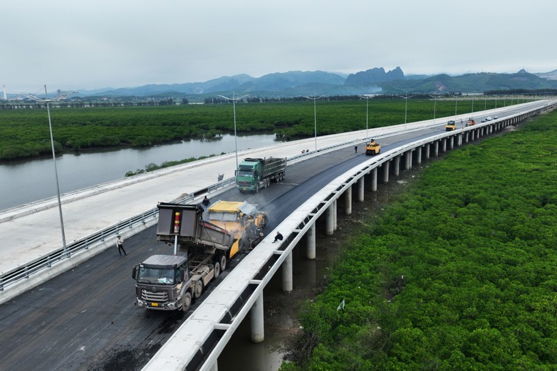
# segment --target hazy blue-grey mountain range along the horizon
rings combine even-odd
[[[205,82],[185,84],[149,84],[135,88],[80,90],[79,97],[173,97],[203,100],[223,94],[250,94],[258,97],[296,97],[301,95],[361,95],[405,93],[484,93],[492,90],[557,89],[557,70],[513,74],[491,72],[405,75],[400,67],[384,68],[343,75],[323,71],[290,71],[251,77],[248,74],[223,76]]]

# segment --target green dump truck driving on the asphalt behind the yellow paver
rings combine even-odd
[[[285,176],[286,159],[269,157],[244,159],[236,170],[236,187],[242,191],[259,191],[269,187],[271,181],[280,182]]]

